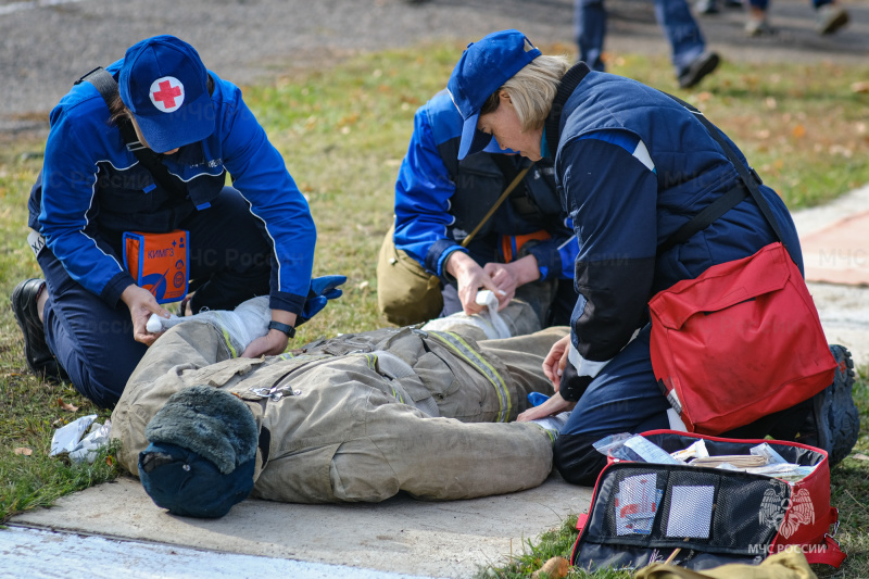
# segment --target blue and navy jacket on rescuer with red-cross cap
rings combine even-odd
[[[122,63],[106,68],[115,79]],[[210,75],[214,133],[164,159],[169,173],[187,182],[188,198],[177,199],[154,182],[108,122],[109,108],[98,90],[80,83],[51,111],[42,174],[28,203],[29,226],[45,236],[73,279],[115,305],[134,284],[116,251],[123,231],[176,228],[209,206],[228,171],[273,246],[270,306],[300,313],[316,241],[307,202],[239,88]]]

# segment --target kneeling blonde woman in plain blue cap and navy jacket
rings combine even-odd
[[[484,147],[491,136],[531,160],[555,159],[562,203],[579,240],[579,300],[570,337],[544,362],[558,392],[519,419],[576,404],[556,441],[556,466],[565,479],[593,484],[606,463],[593,449],[595,441],[670,426],[670,404],[650,357],[648,300],[713,265],[753,255],[776,235],[746,196],[706,228],[656,255],[713,201],[745,187],[706,127],[658,90],[590,71],[581,62],[570,67],[563,58],[542,55],[518,30],[469,45],[448,88],[465,119],[459,159]],[[788,209],[771,188],[761,185],[760,191],[802,270]],[[815,398],[722,436],[794,440],[799,435],[843,457],[856,442],[859,420],[847,360],[839,362],[843,372]]]

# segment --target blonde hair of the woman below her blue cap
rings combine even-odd
[[[504,91],[509,96],[522,130],[541,128],[552,109],[558,84],[569,67],[567,56],[543,54],[536,58],[486,100],[480,114],[498,110],[500,95]]]

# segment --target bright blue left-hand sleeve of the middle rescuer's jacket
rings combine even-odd
[[[455,185],[434,143],[426,108],[414,116],[414,133],[395,181],[395,235],[404,250],[430,274],[442,276],[453,251],[464,251],[446,235],[455,218],[450,199]]]

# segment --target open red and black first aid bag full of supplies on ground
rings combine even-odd
[[[666,559],[703,570],[728,563],[759,564],[799,547],[810,564],[839,567],[845,553],[833,539],[839,511],[830,505],[830,463],[814,446],[778,440],[735,440],[672,430],[642,436],[667,453],[703,439],[710,456],[750,454],[769,444],[809,474],[795,482],[690,464],[609,457],[597,477],[570,564],[582,569],[638,568]]]

